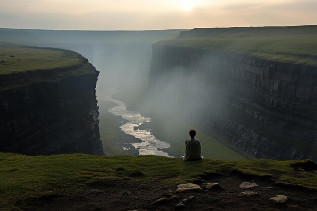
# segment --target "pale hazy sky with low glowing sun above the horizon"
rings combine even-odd
[[[317,0],[0,0],[0,28],[153,30],[317,24]]]

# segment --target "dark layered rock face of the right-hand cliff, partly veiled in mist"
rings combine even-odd
[[[258,158],[317,160],[317,67],[156,44],[149,87],[177,68],[202,83],[191,100],[206,103],[189,113],[205,129]]]

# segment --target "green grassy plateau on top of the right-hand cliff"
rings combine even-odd
[[[158,44],[243,53],[257,58],[317,65],[317,25],[196,28]]]

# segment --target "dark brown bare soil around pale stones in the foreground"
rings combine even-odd
[[[33,203],[33,210],[175,210],[175,206],[185,200],[182,210],[317,210],[317,191],[293,187],[274,186],[263,178],[246,178],[232,174],[229,176],[211,175],[195,183],[214,182],[221,188],[193,192],[176,192],[172,187],[160,185],[153,181],[147,185],[136,185],[129,181],[118,181],[108,186],[89,186],[81,193],[46,198],[44,203]],[[239,187],[242,182],[256,183],[258,187],[248,191],[258,194],[241,195],[246,191]],[[288,201],[275,204],[269,201],[276,195],[285,195]],[[152,202],[166,197],[160,203]],[[31,205],[31,204],[29,204]],[[34,207],[35,206],[35,207]]]

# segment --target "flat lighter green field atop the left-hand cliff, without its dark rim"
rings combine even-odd
[[[69,67],[80,64],[81,58],[71,51],[0,44],[0,75]]]

